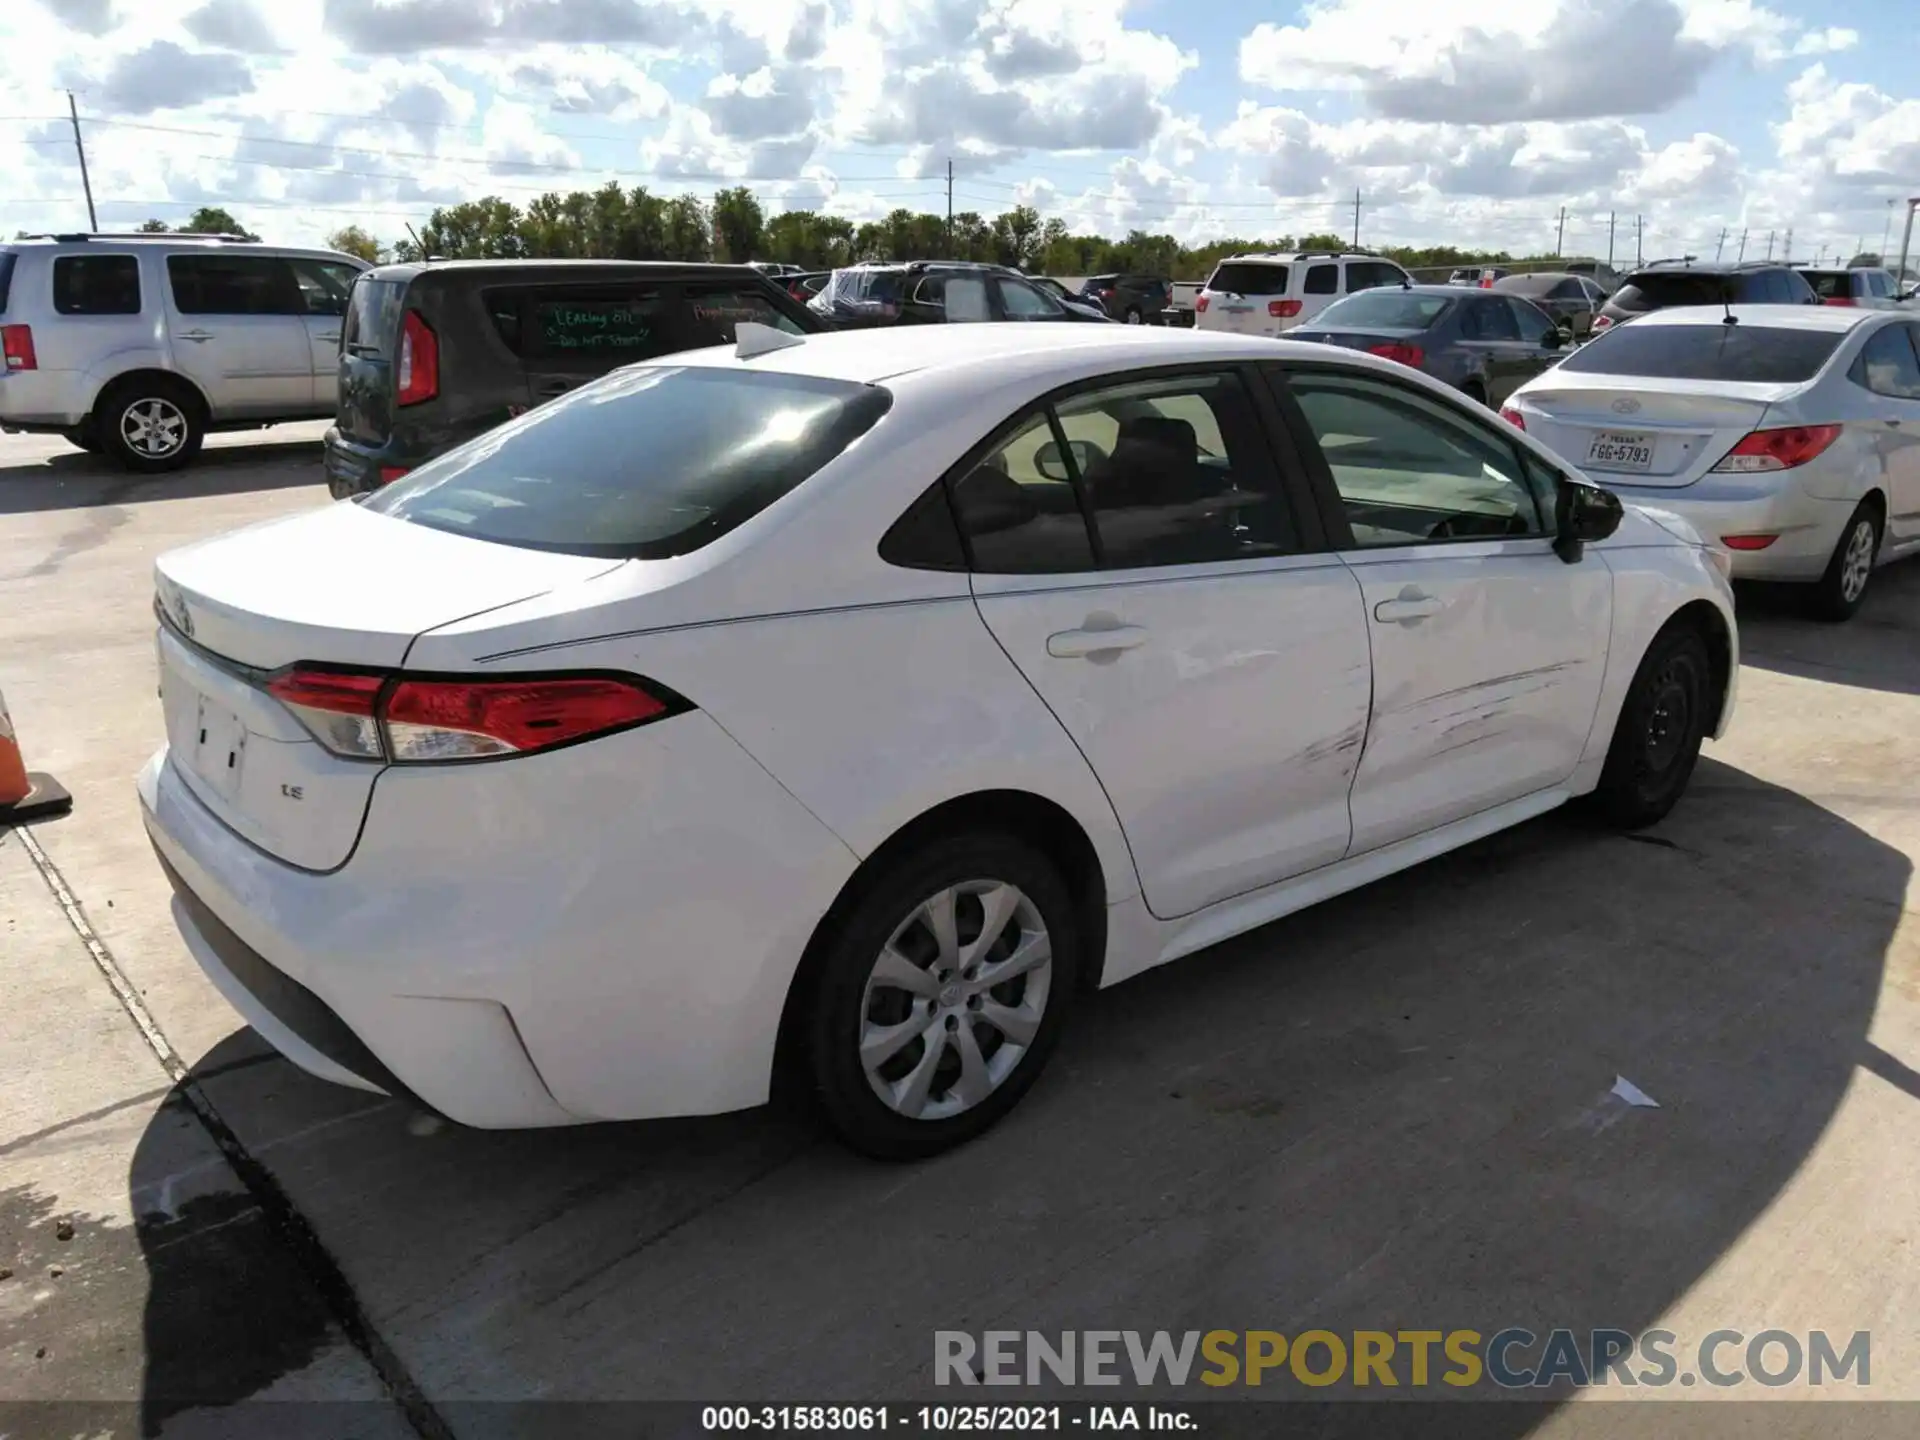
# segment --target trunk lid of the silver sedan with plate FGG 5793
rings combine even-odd
[[[1519,396],[1526,434],[1596,476],[1690,486],[1718,465],[1797,384],[1644,380],[1553,371]]]

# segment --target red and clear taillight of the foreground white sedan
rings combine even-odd
[[[292,666],[267,693],[334,755],[392,764],[551,751],[689,708],[626,676],[470,680]]]

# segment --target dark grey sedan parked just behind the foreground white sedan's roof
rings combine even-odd
[[[1532,301],[1453,284],[1363,290],[1336,300],[1292,338],[1398,361],[1496,407],[1572,344]]]

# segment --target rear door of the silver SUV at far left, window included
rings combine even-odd
[[[167,255],[173,363],[215,420],[315,413],[305,311],[294,267],[276,255]]]

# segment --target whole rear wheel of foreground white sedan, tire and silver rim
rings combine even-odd
[[[947,835],[879,872],[824,937],[806,1064],[876,1160],[972,1140],[1039,1079],[1079,979],[1073,899],[1012,835]]]

